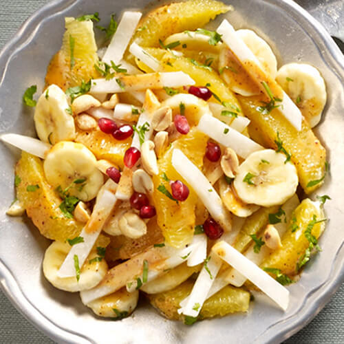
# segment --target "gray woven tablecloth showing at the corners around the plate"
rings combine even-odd
[[[0,49],[17,31],[21,23],[49,0],[1,0]],[[343,1],[343,0],[342,0]],[[302,1],[298,1],[302,5]],[[344,286],[330,303],[303,330],[285,344],[344,343]],[[0,343],[54,343],[41,334],[17,312],[0,291]]]

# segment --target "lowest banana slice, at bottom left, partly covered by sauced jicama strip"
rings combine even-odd
[[[135,310],[138,304],[138,295],[138,290],[127,292],[127,288],[122,288],[106,297],[91,301],[86,306],[98,316],[122,319]]]

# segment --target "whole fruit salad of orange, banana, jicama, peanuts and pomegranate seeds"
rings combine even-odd
[[[98,316],[147,297],[192,325],[248,311],[257,289],[287,310],[321,250],[330,197],[314,191],[328,164],[312,128],[325,82],[279,66],[233,10],[189,0],[107,27],[98,13],[65,18],[42,93],[23,96],[38,138],[1,136],[22,150],[8,215],[52,240],[45,278]]]

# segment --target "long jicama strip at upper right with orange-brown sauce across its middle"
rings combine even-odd
[[[258,58],[251,52],[248,46],[242,41],[242,39],[237,35],[237,32],[234,30],[233,26],[228,23],[226,19],[222,21],[221,25],[217,28],[217,33],[222,35],[222,40],[230,50],[237,56],[241,63],[245,63],[245,61],[250,61],[251,68],[247,68],[248,74],[257,82],[261,80],[261,76],[266,76],[266,80],[269,80],[271,83],[275,83],[276,87],[281,87],[272,80],[270,76],[266,74],[264,69],[261,67],[261,64],[258,61]],[[245,65],[245,64],[244,64]],[[258,71],[258,72],[257,72]],[[281,89],[282,91],[282,89]],[[301,130],[302,125],[302,114],[299,108],[292,102],[289,96],[283,92],[283,100],[282,102],[276,102],[277,105],[281,105],[279,107],[279,111],[281,114],[292,124],[292,126],[297,129],[297,131]]]

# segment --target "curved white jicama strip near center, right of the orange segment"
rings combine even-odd
[[[173,149],[172,166],[191,185],[193,191],[200,197],[213,219],[224,230],[229,231],[230,220],[228,219],[228,211],[211,183],[206,179],[206,176],[197,169],[197,166],[180,149]]]

